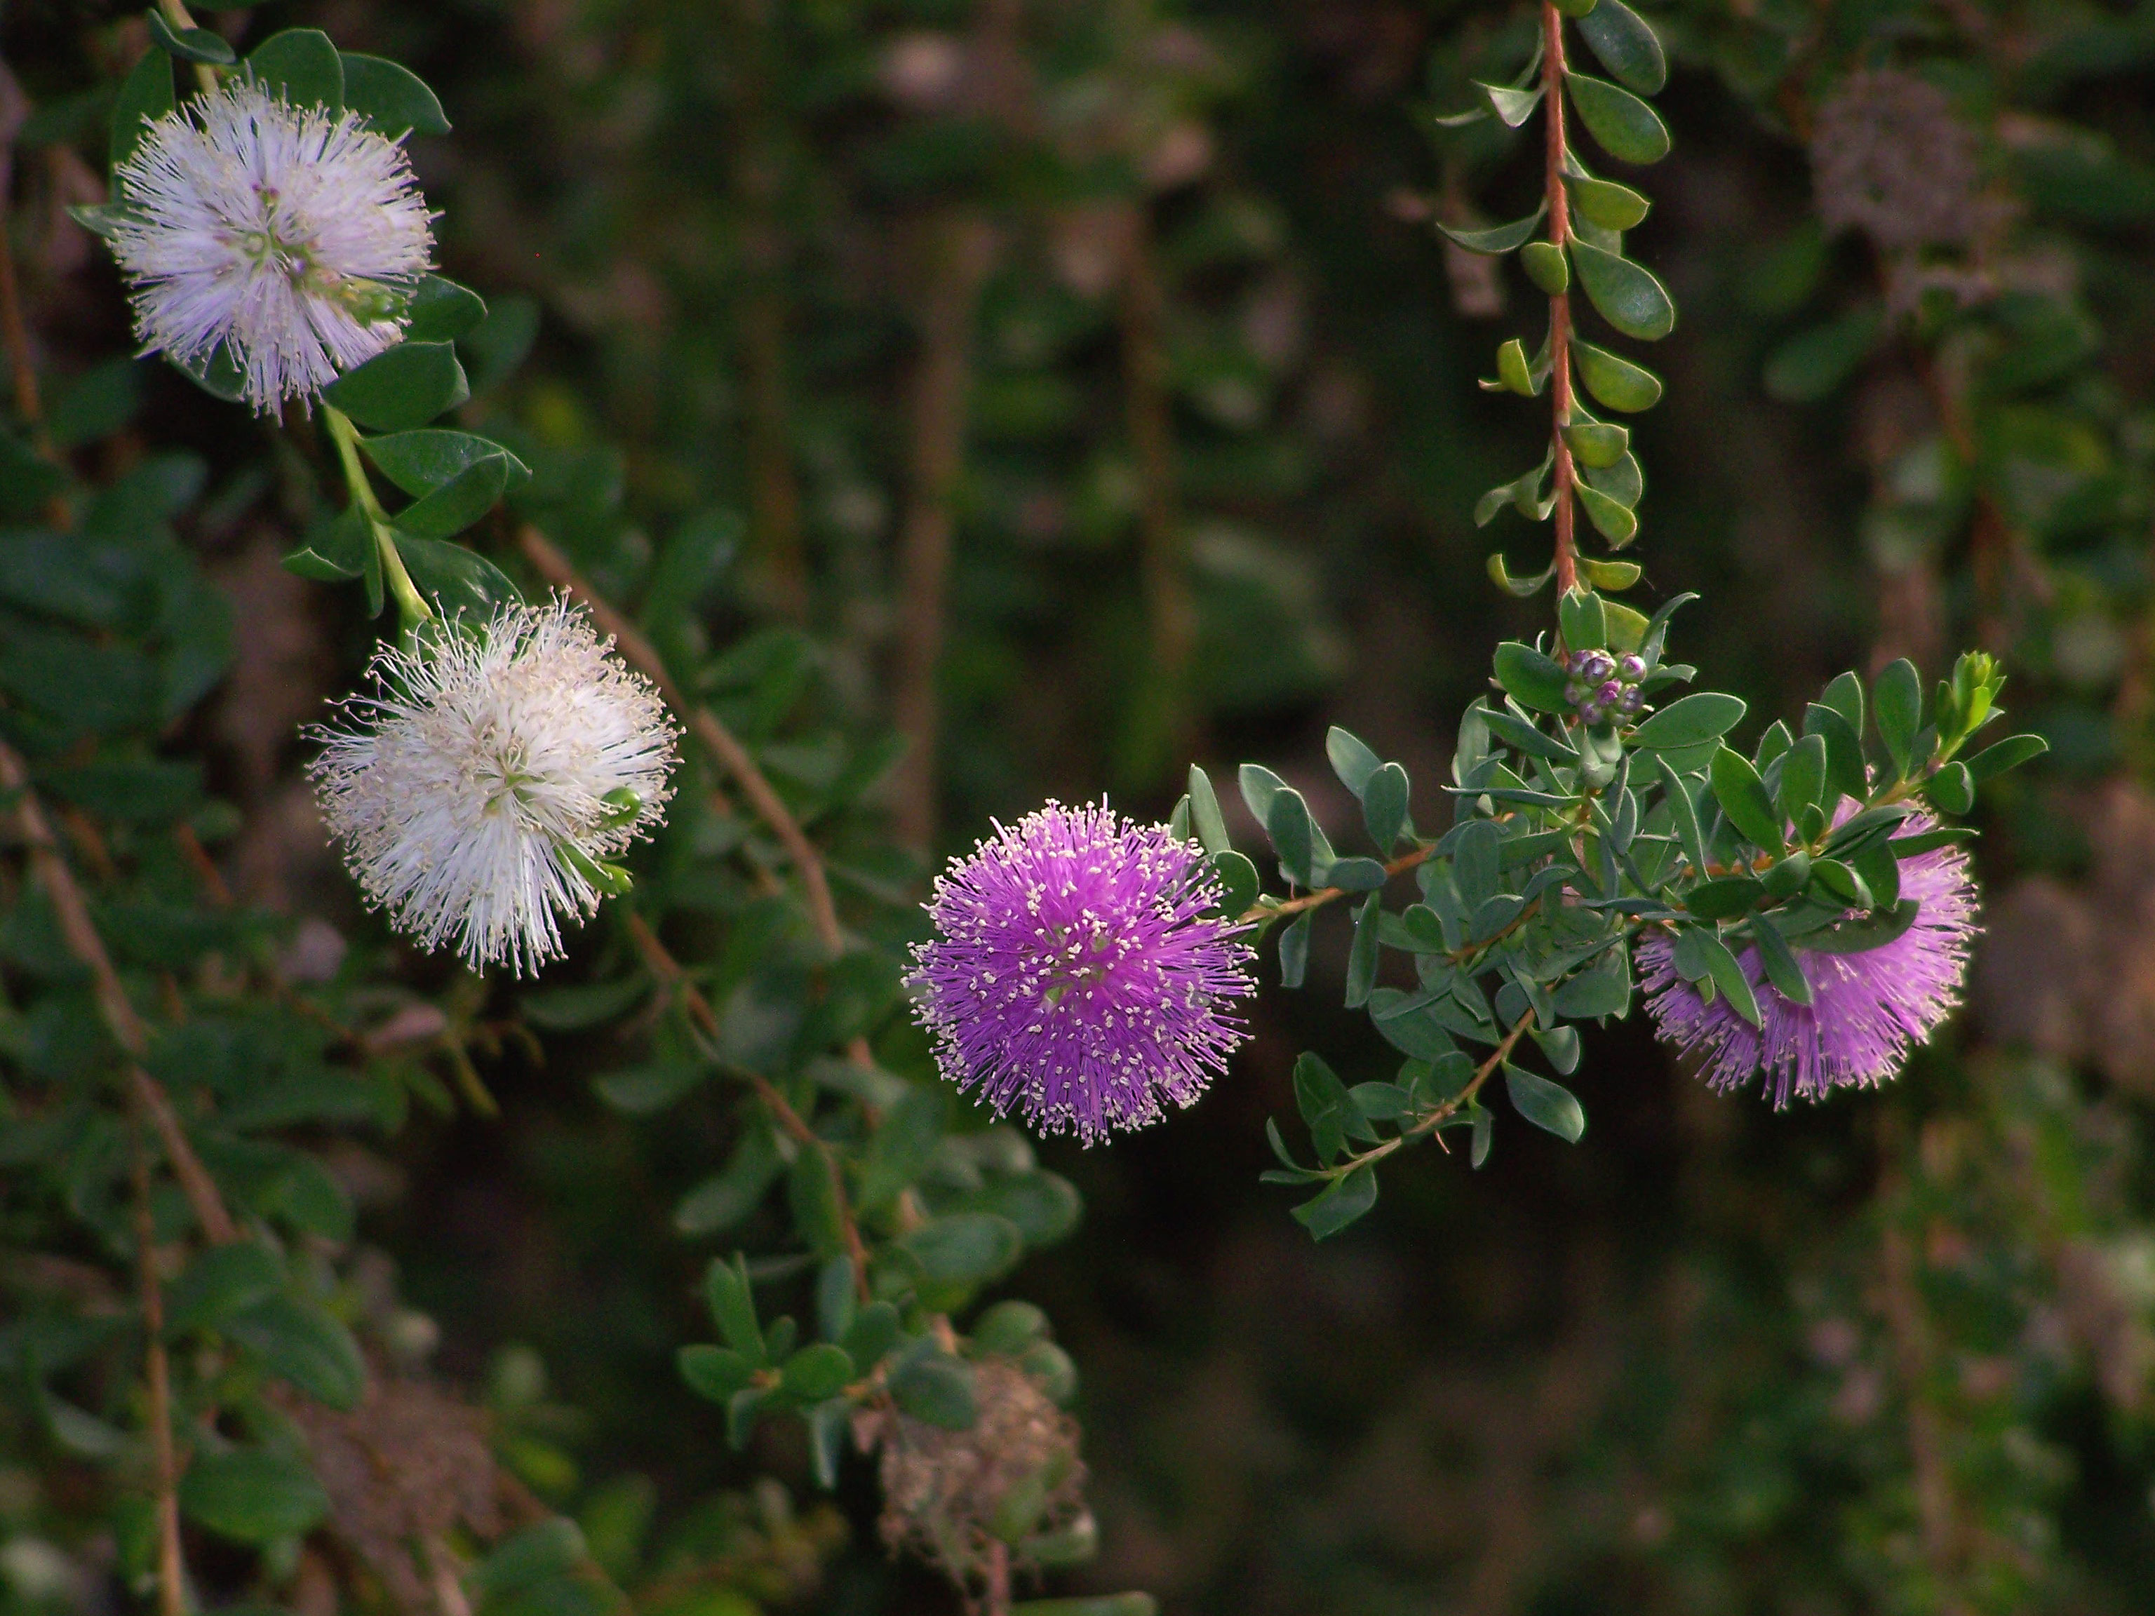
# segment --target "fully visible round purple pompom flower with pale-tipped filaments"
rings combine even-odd
[[[935,1062],[996,1114],[1097,1144],[1190,1105],[1248,1030],[1252,948],[1196,842],[1106,802],[996,825],[937,877],[905,985]]]

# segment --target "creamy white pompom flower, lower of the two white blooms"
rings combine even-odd
[[[308,769],[360,888],[427,948],[539,970],[664,819],[679,730],[657,689],[567,599],[384,646],[371,672]]]

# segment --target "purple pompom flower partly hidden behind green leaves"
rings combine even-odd
[[[1929,817],[1911,814],[1899,836],[1933,827]],[[1782,998],[1767,983],[1758,950],[1746,948],[1737,963],[1758,1000],[1765,1023],[1758,1028],[1728,1008],[1724,995],[1707,1004],[1677,976],[1674,939],[1655,933],[1638,944],[1646,1011],[1664,1043],[1698,1056],[1707,1082],[1722,1092],[1758,1071],[1776,1110],[1791,1095],[1825,1099],[1834,1088],[1877,1086],[1959,1004],[1976,937],[1976,883],[1957,847],[1901,860],[1901,896],[1918,903],[1916,924],[1890,944],[1862,955],[1795,952],[1810,1004]]]

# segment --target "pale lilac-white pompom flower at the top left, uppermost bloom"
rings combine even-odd
[[[403,147],[250,78],[151,123],[112,181],[142,351],[200,366],[224,345],[259,414],[397,343],[433,265]]]

